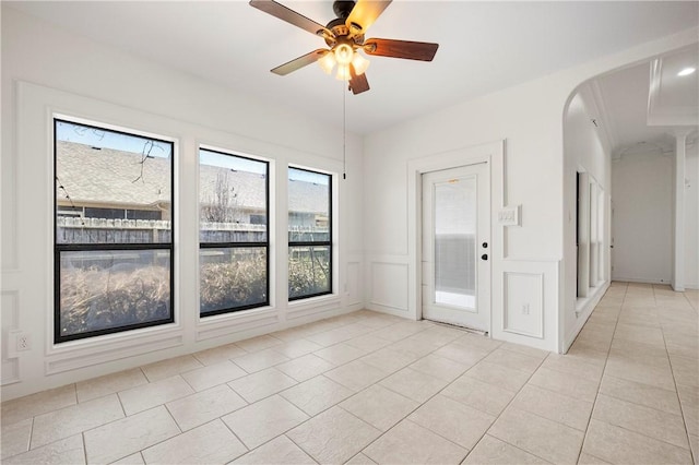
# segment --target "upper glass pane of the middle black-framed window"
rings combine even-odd
[[[268,164],[199,151],[201,242],[266,242]]]

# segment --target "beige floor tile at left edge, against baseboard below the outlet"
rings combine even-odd
[[[75,384],[69,384],[3,402],[0,420],[2,425],[12,425],[76,403]]]

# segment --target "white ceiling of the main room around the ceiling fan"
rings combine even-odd
[[[331,1],[282,1],[325,24]],[[270,69],[324,46],[247,1],[26,1],[26,13],[235,92],[335,126],[345,86],[315,64]],[[370,57],[371,90],[346,95],[347,129],[380,130],[419,114],[696,27],[699,2],[395,0],[367,37],[439,43],[430,63]]]

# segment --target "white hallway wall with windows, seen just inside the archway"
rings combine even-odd
[[[566,216],[564,218],[564,236],[566,255],[571,260],[566,261],[565,290],[566,300],[562,313],[562,329],[565,348],[574,339],[582,329],[594,306],[602,297],[608,285],[609,276],[609,194],[611,194],[611,159],[609,146],[601,118],[600,102],[595,98],[594,86],[591,82],[582,84],[573,93],[568,104],[564,119],[565,139],[565,171],[566,179]],[[597,120],[597,127],[592,123]],[[595,182],[603,190],[603,216],[605,218],[605,235],[602,241],[603,251],[603,279],[599,283],[589,283],[585,290],[587,298],[577,298],[578,293],[578,263],[572,260],[578,254],[576,248],[577,220],[577,191],[576,176],[578,172],[587,175],[585,179]],[[581,247],[585,247],[581,245]],[[589,262],[589,260],[588,260]]]

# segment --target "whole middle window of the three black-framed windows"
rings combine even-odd
[[[269,164],[199,151],[202,317],[269,305]]]

